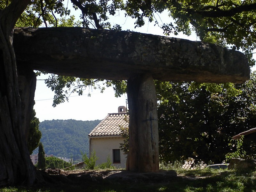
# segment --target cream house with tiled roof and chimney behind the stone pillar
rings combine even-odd
[[[124,143],[120,127],[129,127],[129,116],[126,107],[118,107],[118,113],[109,113],[88,135],[90,154],[95,151],[99,158],[96,166],[107,162],[109,157],[113,166],[125,168],[126,156],[120,150],[120,143]]]

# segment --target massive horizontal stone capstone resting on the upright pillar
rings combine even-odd
[[[16,28],[17,65],[81,78],[244,82],[246,57],[213,44],[128,31],[80,27]]]

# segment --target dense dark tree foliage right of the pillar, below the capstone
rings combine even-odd
[[[205,85],[189,91],[190,83],[156,82],[161,160],[223,162],[232,152],[231,137],[256,126],[255,80],[254,72],[246,83],[236,84],[237,96],[224,85],[210,92]],[[255,157],[252,143],[244,143],[244,150]]]

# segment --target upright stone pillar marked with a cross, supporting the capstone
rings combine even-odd
[[[156,88],[151,75],[140,74],[127,82],[129,153],[126,169],[159,171]]]

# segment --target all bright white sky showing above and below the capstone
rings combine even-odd
[[[69,8],[72,11],[72,7]],[[71,15],[74,14],[77,18],[81,14],[79,11],[71,12]],[[163,35],[163,32],[160,27],[154,26],[153,23],[147,23],[141,28],[133,28],[134,20],[132,18],[124,18],[122,13],[119,15],[110,18],[112,22],[118,23],[122,26],[123,30],[131,29],[132,31],[140,33],[149,33],[155,35]],[[169,21],[167,17],[167,12],[164,12],[162,15],[156,15],[156,19],[161,23],[166,23]],[[174,37],[174,35],[173,35]],[[175,36],[177,38],[188,39],[191,41],[199,41],[195,34],[186,36],[179,34]],[[37,77],[36,81],[36,92],[35,92],[35,106],[36,117],[39,118],[39,121],[52,120],[52,119],[75,119],[82,121],[91,121],[91,120],[102,120],[108,113],[117,113],[119,106],[126,106],[127,94],[122,95],[119,98],[116,98],[114,95],[114,90],[112,87],[106,88],[103,93],[100,93],[100,90],[86,89],[82,96],[78,96],[73,93],[70,95],[69,100],[52,107],[54,92],[48,88],[44,80],[48,78],[48,75],[41,75]],[[90,92],[91,97],[88,97]]]

